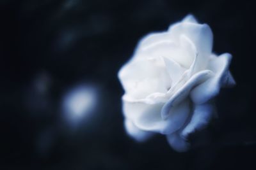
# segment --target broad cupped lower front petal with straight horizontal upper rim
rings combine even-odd
[[[143,131],[170,134],[184,125],[189,115],[189,101],[184,101],[173,108],[170,116],[163,120],[163,104],[124,103],[125,117]]]

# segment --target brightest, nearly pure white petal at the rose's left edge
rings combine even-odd
[[[148,59],[131,60],[120,69],[118,78],[125,93],[136,99],[145,98],[154,92],[167,92],[171,85],[164,66],[157,66]]]

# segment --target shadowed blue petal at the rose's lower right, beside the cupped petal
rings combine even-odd
[[[184,138],[188,138],[189,134],[200,131],[207,124],[209,124],[213,116],[213,104],[195,104],[194,111],[191,117],[190,122],[181,132],[181,135]]]

